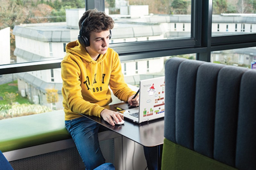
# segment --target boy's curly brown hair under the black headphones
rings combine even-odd
[[[87,38],[90,37],[91,32],[99,33],[101,31],[106,31],[108,29],[114,28],[114,20],[106,15],[105,12],[94,10],[87,10],[84,12],[83,16],[80,18],[78,24],[81,30],[83,24],[83,34]]]

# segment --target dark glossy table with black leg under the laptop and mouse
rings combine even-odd
[[[120,103],[122,104],[122,103]],[[109,105],[105,108],[113,111],[118,111],[114,106]],[[162,145],[164,143],[164,118],[154,121],[142,122],[140,124],[124,119],[123,125],[112,126],[102,118],[96,116],[84,115],[89,119],[99,123],[100,125],[115,131],[116,133],[131,139],[132,141],[147,147],[158,148],[158,169],[161,167]]]

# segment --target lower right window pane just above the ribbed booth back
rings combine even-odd
[[[251,69],[252,62],[256,62],[256,47],[213,51],[211,61]]]

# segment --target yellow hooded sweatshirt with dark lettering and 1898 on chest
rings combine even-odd
[[[68,43],[66,52],[61,62],[65,120],[81,117],[77,113],[100,117],[102,106],[112,101],[109,87],[122,101],[135,94],[124,82],[119,56],[113,49],[108,48],[97,61],[79,41]]]

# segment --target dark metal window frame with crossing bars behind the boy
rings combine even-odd
[[[85,0],[85,10],[105,9],[104,0]],[[184,39],[110,44],[121,61],[196,53],[210,62],[211,52],[256,46],[256,33],[212,37],[212,0],[191,0],[191,37]],[[62,58],[0,65],[0,75],[60,68]]]

